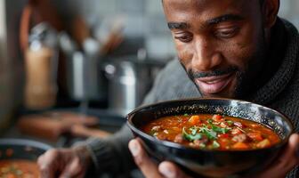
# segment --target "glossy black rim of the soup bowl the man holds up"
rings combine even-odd
[[[141,132],[140,129],[138,129],[135,125],[133,125],[133,115],[140,111],[141,109],[146,109],[146,108],[150,108],[150,107],[155,107],[161,104],[167,104],[167,103],[172,103],[172,102],[181,102],[181,101],[238,101],[238,102],[242,102],[242,103],[248,103],[248,104],[253,104],[256,107],[262,107],[264,109],[268,109],[271,110],[272,112],[280,115],[280,117],[282,117],[286,122],[287,125],[290,126],[290,132],[287,134],[286,138],[284,140],[281,140],[279,143],[272,145],[271,147],[267,147],[267,148],[263,148],[263,149],[254,149],[254,150],[202,150],[202,149],[194,149],[188,146],[184,146],[182,144],[179,143],[175,143],[175,142],[169,142],[169,141],[161,141],[156,139],[153,136],[150,136],[150,134],[145,134],[144,132]],[[178,149],[178,150],[187,150],[187,151],[199,151],[199,152],[206,152],[206,153],[229,153],[229,152],[252,152],[252,151],[264,151],[264,150],[276,150],[279,149],[281,147],[283,147],[285,144],[287,144],[288,139],[290,137],[291,134],[294,133],[294,125],[291,123],[290,119],[282,114],[281,112],[279,112],[278,110],[275,109],[271,109],[269,107],[265,107],[261,104],[257,104],[255,102],[252,101],[244,101],[244,100],[235,100],[235,99],[229,99],[229,98],[188,98],[188,99],[178,99],[178,100],[169,100],[169,101],[158,101],[152,104],[146,104],[146,105],[142,105],[141,107],[138,107],[136,109],[133,109],[133,111],[131,111],[130,113],[128,113],[126,115],[126,125],[129,126],[129,128],[133,131],[133,133],[137,134],[138,136],[141,136],[147,140],[149,140],[150,142],[154,142],[155,144],[159,144],[159,145],[163,145],[163,146],[167,146],[167,147],[171,147],[173,149]],[[243,118],[244,119],[244,118]],[[255,121],[254,121],[255,122]]]

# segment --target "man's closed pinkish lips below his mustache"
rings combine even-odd
[[[220,93],[233,79],[234,72],[217,77],[201,77],[195,81],[203,93]]]

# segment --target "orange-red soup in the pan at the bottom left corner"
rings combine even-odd
[[[10,159],[0,160],[0,178],[38,178],[39,169],[36,162]]]

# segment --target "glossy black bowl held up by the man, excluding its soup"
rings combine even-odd
[[[279,134],[281,142],[260,150],[196,150],[174,142],[159,141],[141,131],[141,126],[159,117],[183,114],[221,114],[262,123]],[[268,166],[286,145],[293,125],[278,111],[261,105],[229,99],[165,101],[133,110],[127,125],[143,141],[145,150],[158,161],[170,160],[190,175],[238,177],[256,174]]]

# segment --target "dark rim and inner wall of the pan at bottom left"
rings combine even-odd
[[[26,159],[36,161],[51,146],[25,139],[0,139],[0,160]]]

